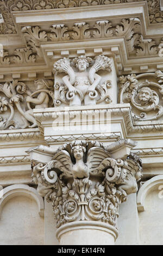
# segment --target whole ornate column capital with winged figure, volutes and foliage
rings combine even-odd
[[[141,176],[139,157],[114,159],[108,147],[96,141],[64,144],[52,161],[32,162],[33,181],[39,194],[52,202],[58,228],[86,220],[117,227],[118,205],[137,191]]]

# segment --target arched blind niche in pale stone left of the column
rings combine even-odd
[[[1,245],[43,245],[44,219],[33,198],[16,196],[4,205],[1,215]]]

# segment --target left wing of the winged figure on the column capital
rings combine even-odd
[[[47,164],[48,170],[52,168],[59,169],[68,177],[72,177],[72,161],[70,154],[66,150],[61,150],[53,156],[52,161]]]

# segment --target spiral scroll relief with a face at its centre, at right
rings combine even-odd
[[[161,79],[160,79],[161,78]],[[163,115],[163,73],[121,76],[120,103],[130,102],[134,120],[157,120]]]

